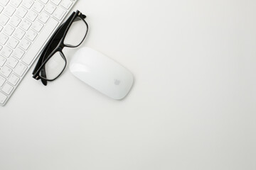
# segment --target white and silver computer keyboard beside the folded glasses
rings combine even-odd
[[[78,0],[0,0],[0,106]]]

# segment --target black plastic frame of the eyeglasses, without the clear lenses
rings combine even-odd
[[[78,45],[65,44],[64,40],[65,40],[65,37],[68,33],[68,30],[70,29],[70,26],[72,25],[72,23],[77,21],[76,19],[78,17],[85,23],[85,25],[87,27],[85,36],[84,36],[84,38],[82,38],[82,41]],[[33,78],[34,79],[37,79],[37,80],[41,79],[43,84],[46,85],[47,81],[54,81],[55,79],[58,79],[58,77],[60,77],[60,75],[65,70],[65,67],[67,66],[67,60],[65,58],[65,55],[63,54],[63,48],[64,47],[78,47],[79,45],[82,44],[82,42],[86,38],[86,35],[88,33],[89,28],[88,28],[87,22],[85,21],[85,18],[86,18],[86,16],[83,15],[80,11],[73,12],[70,15],[70,17],[67,19],[67,21],[65,21],[65,23],[63,23],[58,28],[58,30],[55,31],[52,38],[50,38],[50,40],[48,41],[48,44],[46,45],[46,47],[43,48],[43,50],[41,52],[41,56],[39,57],[38,63],[36,64],[36,67],[33,70]],[[56,37],[58,36],[58,34],[62,33],[62,32],[64,32],[64,33],[62,35],[62,38],[59,40],[58,45],[55,47],[55,49],[52,52],[50,52],[50,54],[48,56],[46,56],[46,54],[48,53],[48,50],[50,50],[50,46],[53,45],[53,42],[56,39]],[[60,74],[57,77],[55,77],[54,79],[47,79],[47,78],[41,77],[40,73],[41,74],[46,74],[46,70],[45,70],[46,63],[48,62],[48,60],[50,60],[51,57],[53,57],[53,55],[55,55],[56,52],[60,52],[61,57],[63,57],[63,60],[65,61],[65,67],[63,67],[62,72],[60,72]]]

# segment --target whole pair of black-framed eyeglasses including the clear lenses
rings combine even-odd
[[[85,40],[88,32],[86,16],[80,11],[73,12],[50,38],[43,48],[39,60],[33,70],[33,78],[41,79],[46,86],[63,73],[67,60],[63,54],[64,47],[78,47]]]

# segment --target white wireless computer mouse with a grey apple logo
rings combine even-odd
[[[129,70],[89,47],[75,52],[70,72],[85,84],[116,100],[127,96],[134,82]]]

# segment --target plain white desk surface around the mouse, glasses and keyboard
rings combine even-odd
[[[134,87],[114,101],[68,69],[48,86],[31,69],[0,108],[0,169],[256,169],[255,7],[78,1],[82,46],[131,70]]]

